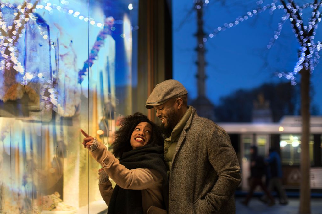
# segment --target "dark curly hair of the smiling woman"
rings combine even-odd
[[[114,141],[111,145],[114,156],[120,158],[122,157],[124,152],[128,152],[133,149],[130,143],[131,136],[135,127],[140,122],[148,122],[152,126],[152,133],[149,144],[154,144],[157,146],[163,145],[163,138],[160,128],[155,123],[151,122],[147,118],[147,116],[140,112],[136,112],[133,115],[129,115],[120,120],[119,125],[121,127],[115,132]]]

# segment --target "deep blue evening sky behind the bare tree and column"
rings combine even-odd
[[[238,16],[244,16],[248,11],[258,8],[256,1],[239,1],[242,3],[237,4],[232,1],[226,2],[228,5],[210,0],[209,4],[204,7],[204,31],[207,35],[212,33],[215,28],[223,26],[225,22],[234,22]],[[265,3],[271,2],[265,1]],[[278,1],[277,5],[279,4]],[[193,6],[193,0],[172,1],[173,78],[186,87],[189,99],[194,99],[197,96],[195,78],[197,66],[194,63],[197,56],[194,51],[197,40],[193,35],[197,29],[197,18],[195,10],[189,14]],[[308,20],[308,16],[305,16],[306,12],[310,13],[311,9],[308,8],[304,11],[304,20]],[[284,23],[276,43],[271,49],[267,49],[283,14],[282,9],[275,10],[272,15],[269,10],[266,10],[248,20],[239,22],[235,27],[220,32],[213,38],[208,37],[205,43],[208,63],[206,67],[206,75],[208,76],[206,95],[213,104],[218,105],[220,97],[238,89],[251,89],[263,83],[289,81],[275,75],[278,71],[292,71],[298,61],[299,45],[291,30],[289,20]],[[183,24],[181,24],[182,22]],[[315,43],[322,40],[322,22],[316,32]],[[312,103],[319,107],[319,115],[322,115],[321,63],[315,67],[311,76],[315,91]],[[300,75],[297,74],[296,78],[299,83]]]

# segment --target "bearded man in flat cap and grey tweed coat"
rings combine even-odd
[[[235,213],[233,194],[241,176],[230,138],[187,106],[187,94],[180,82],[166,80],[156,85],[146,102],[171,131],[164,140],[169,213]]]

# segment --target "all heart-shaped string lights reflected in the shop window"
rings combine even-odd
[[[93,18],[84,16],[79,11],[74,11],[68,8],[67,5],[69,5],[69,2],[65,0],[61,1],[61,5],[52,4],[49,0],[42,1],[44,5],[38,4],[38,2],[39,1],[37,0],[32,4],[30,2],[27,3],[23,1],[22,4],[18,5],[0,2],[1,9],[10,10],[6,12],[13,13],[15,16],[13,24],[7,26],[8,22],[5,20],[3,12],[0,11],[0,75],[4,75],[5,72],[13,72],[13,70],[15,70],[20,74],[20,84],[23,86],[28,85],[29,82],[38,77],[39,81],[42,83],[40,88],[40,96],[42,99],[40,102],[40,108],[45,107],[46,111],[50,111],[51,108],[53,110],[57,110],[57,85],[55,85],[53,80],[45,80],[42,73],[33,74],[26,72],[24,66],[18,61],[17,44],[19,42],[19,38],[24,35],[26,23],[30,20],[37,21],[39,17],[36,11],[46,10],[49,14],[53,14],[54,11],[67,13],[80,21],[89,22],[92,26],[102,29],[95,41],[94,47],[91,50],[90,58],[87,60],[88,63],[86,64],[85,61],[84,68],[79,72],[79,83],[81,83],[83,79],[82,76],[86,75],[86,71],[88,72],[88,68],[96,59],[98,51],[100,47],[102,47],[107,34],[111,34],[111,31],[115,31],[115,27],[113,26],[114,19],[112,17],[106,18],[105,23],[96,22]],[[54,49],[55,45],[50,41],[50,36],[48,35],[46,27],[38,24],[37,28],[42,38],[47,40],[50,43],[51,48]],[[137,28],[131,29],[137,30]]]

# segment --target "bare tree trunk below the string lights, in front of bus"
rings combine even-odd
[[[300,183],[300,214],[311,213],[311,188],[310,188],[310,70],[305,67],[301,74],[301,115],[302,115],[302,138],[301,138],[301,183]]]

